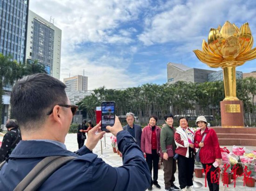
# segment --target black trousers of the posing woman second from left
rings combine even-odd
[[[149,171],[152,177],[152,161],[153,161],[153,180],[151,178],[150,185],[158,184],[158,162],[159,162],[159,155],[156,152],[156,149],[152,149],[152,154],[146,153],[146,162],[148,164]]]

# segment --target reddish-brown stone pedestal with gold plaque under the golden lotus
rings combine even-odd
[[[222,127],[244,127],[242,101],[222,101],[220,104]]]

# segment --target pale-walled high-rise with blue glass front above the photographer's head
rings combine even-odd
[[[61,29],[29,10],[26,59],[44,64],[49,75],[60,79]]]

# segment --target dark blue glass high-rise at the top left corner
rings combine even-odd
[[[25,61],[29,0],[0,0],[0,53]]]

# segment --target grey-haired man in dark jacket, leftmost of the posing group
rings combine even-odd
[[[128,131],[138,142],[141,147],[141,126],[134,124],[134,114],[129,112],[126,114],[127,125],[123,126],[123,130]]]

